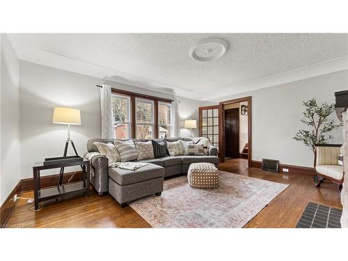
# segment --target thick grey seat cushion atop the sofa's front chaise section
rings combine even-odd
[[[164,168],[155,164],[148,164],[136,171],[129,171],[122,168],[109,168],[109,177],[122,186],[163,176]]]

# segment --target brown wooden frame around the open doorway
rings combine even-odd
[[[234,100],[227,100],[219,103],[219,158],[220,162],[224,161],[225,155],[225,109],[224,105],[238,103],[238,102],[248,102],[248,167],[251,167],[251,96],[242,97]]]

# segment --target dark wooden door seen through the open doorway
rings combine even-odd
[[[239,158],[239,108],[225,110],[225,157]]]

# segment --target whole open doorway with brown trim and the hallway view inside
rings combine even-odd
[[[248,161],[251,167],[251,97],[220,102],[220,161]]]

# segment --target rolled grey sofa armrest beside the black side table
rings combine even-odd
[[[90,160],[90,165],[94,170],[94,177],[91,177],[95,190],[102,195],[109,191],[109,166],[108,159],[104,155],[97,155]]]

